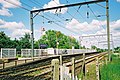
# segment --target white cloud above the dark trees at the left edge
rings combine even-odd
[[[8,34],[12,39],[22,37],[25,33],[31,33],[30,30],[25,29],[25,25],[22,22],[6,22],[0,19],[0,29],[7,30],[11,33]]]

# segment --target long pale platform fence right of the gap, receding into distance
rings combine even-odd
[[[75,53],[87,53],[96,52],[96,50],[91,49],[34,49],[34,57],[40,57],[45,55],[59,55],[59,54],[75,54]],[[32,57],[31,49],[21,49],[22,57]]]

